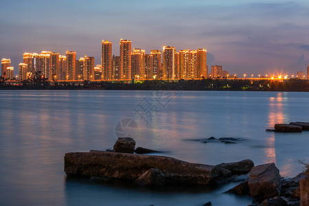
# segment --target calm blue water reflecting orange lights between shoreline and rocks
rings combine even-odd
[[[155,105],[144,113],[148,122],[135,113],[147,102]],[[66,152],[112,148],[117,122],[133,119],[139,126],[137,146],[195,163],[275,162],[282,176],[295,176],[303,170],[298,160],[309,161],[309,132],[265,129],[309,122],[308,102],[309,93],[286,92],[0,91],[0,204],[248,205],[249,198],[222,194],[236,183],[211,191],[151,190],[68,179],[63,157]],[[211,136],[246,140],[185,141]]]

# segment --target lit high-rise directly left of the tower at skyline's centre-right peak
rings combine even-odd
[[[148,73],[148,78],[160,79],[162,70],[161,70],[161,51],[160,50],[151,50],[150,52],[150,71]]]

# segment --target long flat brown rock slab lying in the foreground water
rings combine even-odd
[[[161,170],[168,182],[214,185],[231,176],[229,170],[214,165],[188,163],[154,155],[118,152],[71,152],[65,154],[65,173],[136,180],[151,168]]]

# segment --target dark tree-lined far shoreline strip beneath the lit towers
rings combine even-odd
[[[3,83],[3,82],[2,82]],[[5,82],[0,90],[309,91],[309,80],[146,80],[126,82]]]

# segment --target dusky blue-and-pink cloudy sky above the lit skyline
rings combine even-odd
[[[119,56],[123,38],[148,54],[205,48],[209,68],[238,76],[291,75],[309,64],[308,20],[307,0],[0,0],[0,58],[15,74],[23,52],[70,50],[100,64],[102,39]]]

